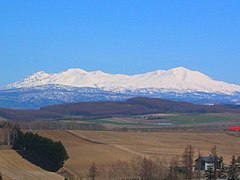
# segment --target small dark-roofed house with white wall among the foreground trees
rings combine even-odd
[[[217,169],[222,167],[222,159],[217,156],[200,156],[195,160],[196,170],[208,170],[209,168],[214,169],[214,164],[216,163]]]

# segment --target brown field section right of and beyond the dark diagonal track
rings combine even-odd
[[[121,146],[130,151],[147,156],[160,156],[170,160],[175,155],[181,155],[185,147],[191,144],[195,154],[200,152],[209,155],[216,145],[219,156],[226,163],[232,155],[240,155],[240,137],[230,136],[224,132],[89,132],[72,131],[78,136],[84,136],[109,145]]]

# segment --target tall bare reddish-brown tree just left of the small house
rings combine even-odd
[[[184,166],[186,180],[191,180],[193,178],[193,157],[193,147],[192,145],[188,145],[182,155],[182,163]]]

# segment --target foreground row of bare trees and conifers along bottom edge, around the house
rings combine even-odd
[[[200,155],[200,154],[199,154]],[[217,149],[211,149],[210,156],[217,160]],[[98,167],[94,162],[90,165],[88,178],[99,179],[136,179],[136,180],[191,180],[208,179],[216,180],[224,178],[238,180],[240,172],[240,157],[233,156],[231,164],[227,167],[221,161],[221,167],[217,168],[217,161],[212,169],[206,171],[194,171],[194,149],[188,145],[181,156],[174,157],[170,163],[165,160],[146,157],[134,157],[130,161],[117,161],[110,169]]]

